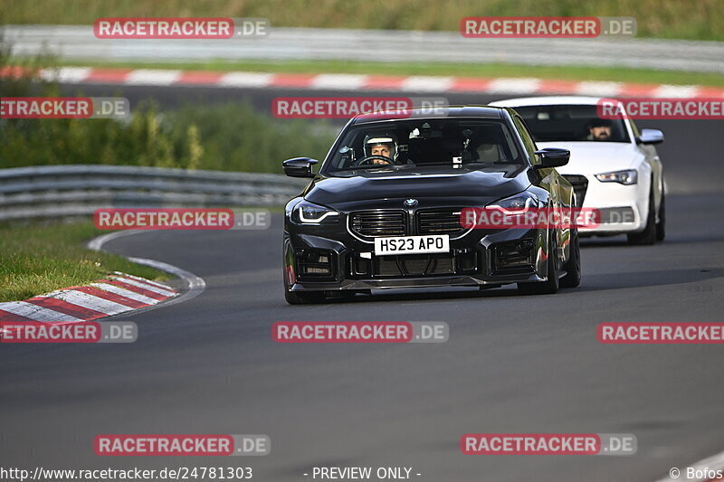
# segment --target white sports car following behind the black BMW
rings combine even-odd
[[[595,97],[529,97],[492,102],[515,109],[538,148],[571,151],[568,165],[557,170],[573,184],[578,207],[601,211],[599,226],[581,235],[625,233],[633,244],[653,244],[665,235],[662,161],[654,144],[656,129],[636,127],[632,119],[596,115]]]

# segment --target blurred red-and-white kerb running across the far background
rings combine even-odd
[[[21,75],[20,67],[5,67],[0,76]],[[546,80],[536,78],[436,77],[358,75],[346,73],[264,73],[108,69],[62,67],[39,72],[60,83],[138,86],[201,86],[240,89],[389,90],[481,94],[567,94],[597,97],[724,98],[724,89],[697,85],[638,84],[611,81]]]

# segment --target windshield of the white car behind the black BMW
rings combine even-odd
[[[514,108],[536,142],[629,142],[621,119],[599,118],[595,106],[527,106]]]

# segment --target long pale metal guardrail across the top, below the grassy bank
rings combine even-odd
[[[724,42],[640,38],[469,39],[459,32],[286,28],[266,37],[228,40],[109,40],[92,25],[3,25],[18,55],[51,52],[64,59],[148,61],[344,60],[500,62],[724,72]],[[454,75],[454,72],[451,72]],[[535,74],[534,74],[535,75]]]

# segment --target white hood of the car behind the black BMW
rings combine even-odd
[[[560,174],[595,175],[633,169],[643,159],[636,146],[624,142],[556,141],[536,145],[538,149],[562,147],[571,151],[568,164],[556,168]]]

